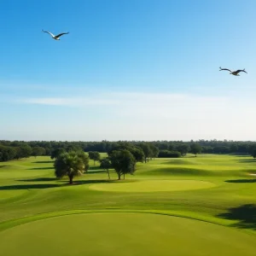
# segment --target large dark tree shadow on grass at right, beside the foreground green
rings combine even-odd
[[[232,226],[241,229],[256,230],[256,205],[247,204],[228,209],[228,212],[218,214],[218,218],[237,220]]]

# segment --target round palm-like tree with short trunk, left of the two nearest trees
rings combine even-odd
[[[73,177],[84,171],[84,160],[78,152],[70,151],[60,154],[55,160],[55,176],[69,178],[69,183],[73,184]]]

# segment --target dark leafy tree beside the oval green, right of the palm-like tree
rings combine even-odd
[[[111,161],[113,169],[118,174],[119,179],[122,174],[125,179],[125,173],[133,174],[135,172],[135,157],[126,149],[113,150],[109,156],[109,160]]]

